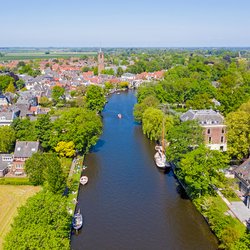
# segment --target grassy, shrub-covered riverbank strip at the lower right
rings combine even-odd
[[[172,166],[176,179],[218,238],[220,248],[228,250],[249,249],[247,225],[235,213],[232,204],[222,193],[214,187],[214,195],[204,195],[192,199],[188,193],[188,184],[184,184],[178,177],[176,165],[172,163]]]

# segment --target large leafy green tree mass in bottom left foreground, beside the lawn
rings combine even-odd
[[[19,208],[5,238],[4,250],[69,249],[69,224],[66,198],[40,192]]]

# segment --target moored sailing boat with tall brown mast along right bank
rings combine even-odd
[[[163,119],[162,122],[162,135],[161,135],[161,146],[157,145],[155,146],[155,150],[157,151],[154,155],[155,164],[160,169],[166,169],[170,167],[169,162],[167,162],[166,155],[165,155],[165,119]]]

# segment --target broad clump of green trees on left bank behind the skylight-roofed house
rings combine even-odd
[[[12,127],[18,140],[39,140],[45,151],[54,150],[61,141],[72,141],[78,152],[86,152],[101,134],[102,122],[94,111],[71,108],[63,111],[54,122],[49,115],[40,115],[36,121],[16,119]]]

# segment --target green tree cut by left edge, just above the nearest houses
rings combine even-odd
[[[12,127],[0,127],[0,152],[9,153],[14,148],[15,130]]]

